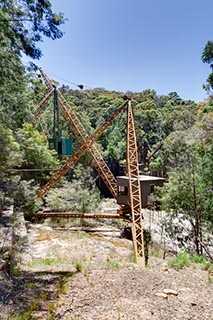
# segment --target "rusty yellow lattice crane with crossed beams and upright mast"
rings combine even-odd
[[[40,117],[41,111],[49,101],[54,92],[54,85],[52,81],[47,77],[42,69],[40,69],[41,75],[45,80],[46,85],[49,88],[49,92],[46,97],[38,104],[35,110],[35,116]],[[95,162],[95,168],[98,174],[101,176],[114,198],[117,198],[117,181],[113,176],[111,170],[105,163],[101,154],[94,145],[94,142],[100,137],[100,135],[107,129],[112,121],[122,112],[127,106],[127,168],[126,173],[129,181],[129,195],[130,195],[130,216],[131,216],[131,229],[133,238],[133,247],[136,257],[136,262],[142,266],[145,265],[144,254],[144,239],[143,239],[143,220],[142,220],[142,203],[141,203],[141,190],[139,181],[139,167],[138,167],[138,155],[137,144],[134,126],[134,117],[131,107],[130,99],[127,101],[90,137],[88,136],[83,125],[80,123],[76,114],[71,108],[71,105],[63,97],[62,93],[58,91],[59,107],[66,120],[68,120],[72,126],[73,131],[77,138],[81,140],[82,144],[80,148],[70,156],[65,164],[50,178],[50,180],[44,185],[38,192],[37,196],[42,197],[48,192],[70,169],[72,169],[80,157],[89,152]],[[122,208],[119,210],[122,214]],[[44,217],[44,215],[41,215]],[[63,215],[61,215],[63,216]]]

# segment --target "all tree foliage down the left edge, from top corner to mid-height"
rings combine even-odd
[[[3,198],[15,197],[17,205],[32,195],[32,183],[21,179],[17,169],[58,165],[44,137],[24,124],[33,119],[35,94],[42,86],[32,73],[26,73],[21,56],[41,57],[36,44],[43,36],[60,38],[58,27],[63,21],[63,14],[55,14],[50,1],[0,1],[0,193]],[[37,176],[40,181],[46,178],[46,173]]]

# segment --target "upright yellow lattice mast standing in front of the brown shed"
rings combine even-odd
[[[136,262],[145,266],[141,189],[139,181],[137,143],[131,101],[127,105],[127,176],[129,178],[132,237]]]

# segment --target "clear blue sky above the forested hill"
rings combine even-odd
[[[212,0],[51,0],[68,19],[64,37],[41,44],[37,62],[61,84],[158,95],[176,91],[202,101],[213,40]],[[60,78],[65,79],[62,81]],[[86,87],[86,88],[87,88]]]

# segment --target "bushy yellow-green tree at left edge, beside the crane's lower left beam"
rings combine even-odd
[[[32,199],[36,181],[46,182],[59,164],[44,135],[29,123],[16,134],[0,126],[0,151],[0,194],[3,198],[13,198],[16,206]]]

